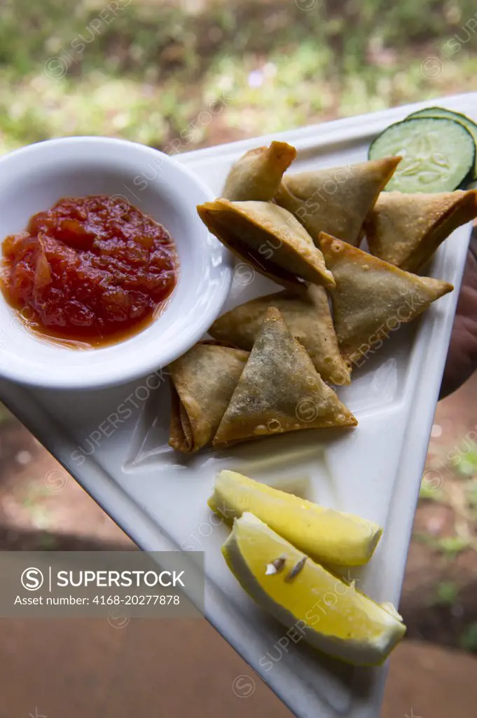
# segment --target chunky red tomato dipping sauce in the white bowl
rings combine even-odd
[[[3,242],[1,288],[27,326],[77,346],[148,325],[176,285],[169,233],[119,197],[66,197]]]

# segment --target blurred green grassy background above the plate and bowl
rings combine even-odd
[[[69,134],[168,149],[187,127],[192,149],[477,89],[474,0],[0,0],[0,13],[0,151]]]

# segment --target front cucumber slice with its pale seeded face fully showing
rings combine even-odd
[[[369,147],[369,159],[391,155],[402,160],[386,190],[452,192],[471,178],[476,144],[455,120],[416,117],[389,126]]]

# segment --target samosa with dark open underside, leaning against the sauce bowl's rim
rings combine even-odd
[[[219,198],[198,205],[207,228],[230,251],[260,274],[285,286],[334,286],[321,251],[293,215],[271,202],[230,202]]]

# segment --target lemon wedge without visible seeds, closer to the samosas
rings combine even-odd
[[[217,474],[208,504],[230,524],[250,511],[293,546],[336,566],[366,564],[382,534],[377,523],[323,508],[235,471]]]

